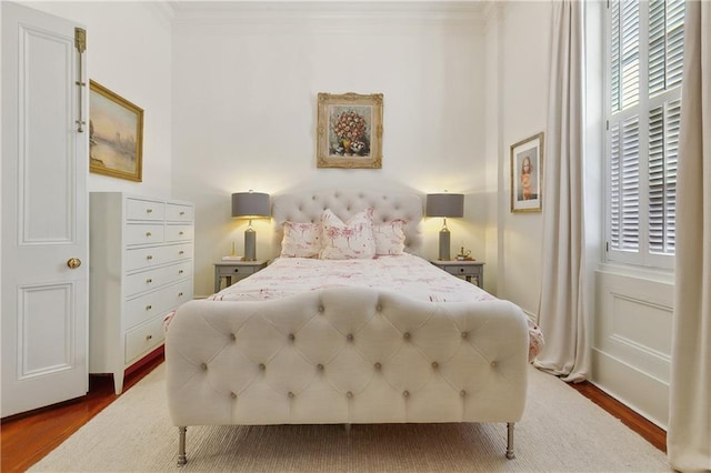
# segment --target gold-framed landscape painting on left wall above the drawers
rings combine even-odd
[[[141,182],[143,109],[89,81],[89,171]]]

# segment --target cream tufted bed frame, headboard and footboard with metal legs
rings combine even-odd
[[[422,198],[359,191],[277,197],[287,221],[341,219],[371,207],[422,239]],[[392,330],[398,331],[393,335]],[[304,330],[304,328],[309,328]],[[338,354],[338,356],[337,356]],[[306,361],[306,363],[304,363]],[[371,288],[328,288],[268,301],[190,301],[166,336],[168,405],[187,462],[188,425],[505,422],[525,402],[528,328],[508,301],[425,302]]]

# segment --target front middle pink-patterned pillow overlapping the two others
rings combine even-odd
[[[322,260],[363,260],[375,256],[373,210],[367,209],[343,223],[331,209],[321,214]]]

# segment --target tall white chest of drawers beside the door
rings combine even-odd
[[[126,370],[159,348],[163,318],[192,299],[194,207],[91,192],[89,202],[89,372]]]

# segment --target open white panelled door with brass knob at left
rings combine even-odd
[[[77,26],[1,8],[4,417],[88,391],[88,109]]]

